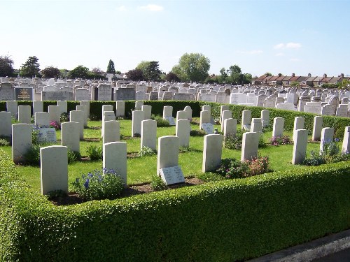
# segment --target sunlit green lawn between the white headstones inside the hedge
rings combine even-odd
[[[122,141],[127,143],[128,153],[137,153],[140,151],[140,138],[131,138],[131,120],[119,120],[120,121],[120,134],[122,135]],[[90,121],[88,127],[84,130],[84,138],[101,138],[101,125],[102,122]],[[191,124],[192,129],[199,129],[196,124]],[[215,128],[221,130],[221,126],[217,125]],[[291,133],[286,132],[286,135],[291,137]],[[158,127],[157,137],[161,136],[174,136],[175,126]],[[263,138],[266,143],[269,142],[269,138],[272,136],[272,132],[263,133]],[[57,139],[60,140],[61,132],[57,131]],[[202,170],[202,152],[203,152],[203,140],[204,137],[190,137],[190,148],[188,152],[179,154],[179,166],[183,170],[185,177],[191,176]],[[58,141],[59,143],[59,141]],[[80,142],[80,153],[82,156],[86,156],[86,148],[88,145],[102,146],[102,140],[88,141],[84,140]],[[157,145],[158,146],[158,145]],[[318,143],[309,143],[307,145],[307,152],[311,150],[318,151]],[[11,156],[11,148],[9,146],[3,147],[3,150]],[[278,147],[268,145],[265,148],[259,149],[259,154],[262,156],[268,156],[270,167],[272,170],[286,170],[286,169],[299,169],[305,168],[304,166],[292,165],[291,159],[293,154],[293,145],[281,145]],[[240,159],[241,150],[228,150],[223,148],[222,158],[235,158]],[[20,170],[28,184],[34,189],[40,191],[40,168],[32,166],[16,166]],[[78,161],[76,163],[69,164],[69,184],[80,176],[82,173],[87,173],[91,170],[102,168],[101,161]],[[157,156],[151,157],[139,157],[127,159],[127,184],[139,184],[142,182],[151,182],[151,177],[156,173],[157,169]]]

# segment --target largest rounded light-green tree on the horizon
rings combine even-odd
[[[203,82],[210,68],[210,60],[199,53],[186,53],[179,59],[179,64],[172,68],[172,72],[183,81]]]

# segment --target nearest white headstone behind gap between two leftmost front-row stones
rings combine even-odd
[[[71,151],[80,152],[80,124],[64,122],[61,124],[61,143]]]

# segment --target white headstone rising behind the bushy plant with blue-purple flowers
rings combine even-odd
[[[103,167],[113,169],[127,186],[127,143],[111,142],[104,144]]]

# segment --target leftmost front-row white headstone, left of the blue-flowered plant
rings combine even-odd
[[[40,149],[41,194],[62,190],[68,192],[67,147],[52,145]]]

